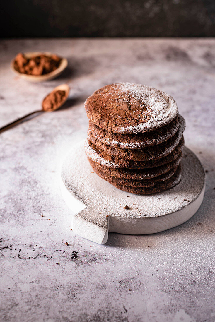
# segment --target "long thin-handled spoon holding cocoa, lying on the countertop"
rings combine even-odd
[[[64,96],[64,99],[61,101],[61,103],[60,104],[58,104],[57,106],[55,106],[55,108],[54,109],[52,109],[52,110],[46,110],[46,109],[44,109],[44,105],[43,105],[43,103],[44,103],[44,99],[49,95],[49,94],[51,94],[52,92],[55,92],[56,90],[64,90],[65,91],[65,96]],[[39,109],[38,111],[34,111],[34,112],[32,112],[32,113],[29,113],[29,114],[27,114],[27,115],[25,115],[25,116],[23,116],[22,118],[18,118],[17,120],[15,120],[14,122],[11,122],[11,123],[9,123],[9,124],[7,124],[7,125],[5,125],[5,126],[3,126],[2,128],[0,128],[0,133],[2,133],[2,132],[4,132],[4,131],[6,131],[6,130],[8,130],[9,128],[13,128],[14,126],[16,126],[16,125],[18,125],[18,124],[20,124],[20,123],[22,123],[22,122],[24,122],[24,120],[26,120],[27,118],[29,118],[30,116],[32,116],[32,115],[34,115],[34,114],[42,114],[42,113],[46,113],[46,112],[53,112],[53,111],[55,111],[56,109],[59,109],[64,103],[65,103],[65,101],[67,100],[67,98],[68,98],[68,95],[69,95],[69,90],[70,90],[70,88],[69,88],[69,86],[67,85],[67,84],[63,84],[63,85],[60,85],[60,86],[57,86],[57,87],[55,87],[54,88],[54,90],[52,90],[48,95],[46,95],[46,97],[43,99],[43,102],[42,102],[42,109]]]

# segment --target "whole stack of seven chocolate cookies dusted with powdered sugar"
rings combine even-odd
[[[85,109],[85,151],[97,175],[133,194],[158,193],[180,182],[185,121],[170,95],[116,83],[95,91]]]

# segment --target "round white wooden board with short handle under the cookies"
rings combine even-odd
[[[181,166],[181,182],[174,188],[152,195],[130,194],[94,173],[84,152],[84,142],[79,142],[65,157],[60,181],[62,196],[74,213],[73,232],[105,243],[108,232],[151,234],[186,222],[202,203],[205,173],[197,156],[187,147]]]

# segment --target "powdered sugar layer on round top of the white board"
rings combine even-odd
[[[101,209],[98,216],[149,218],[166,215],[192,203],[204,186],[205,175],[200,161],[185,147],[181,161],[182,178],[178,185],[150,196],[126,193],[94,173],[83,145],[83,142],[79,143],[67,155],[62,167],[62,179],[68,191],[85,205]],[[125,210],[124,205],[128,205],[129,210]],[[90,216],[89,212],[89,221]]]

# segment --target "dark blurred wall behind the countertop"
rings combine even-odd
[[[2,37],[215,36],[215,0],[2,0]]]

